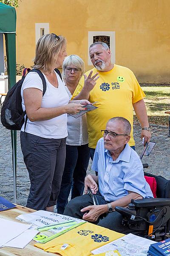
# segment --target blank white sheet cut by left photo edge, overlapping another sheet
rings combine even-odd
[[[0,218],[0,247],[2,247],[8,241],[11,241],[11,239],[19,236],[29,227],[31,227],[30,224],[23,224]]]

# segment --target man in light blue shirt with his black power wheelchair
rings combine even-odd
[[[167,202],[162,203],[162,198],[153,199],[144,178],[142,162],[127,144],[130,131],[127,119],[109,119],[106,130],[102,131],[104,137],[97,143],[92,163],[92,169],[98,172],[98,176],[87,175],[85,195],[72,199],[64,214],[120,233],[148,236],[154,231],[150,227],[154,222],[156,229],[164,225],[170,209],[164,206]],[[91,193],[87,194],[88,188]],[[131,200],[134,200],[132,204]]]

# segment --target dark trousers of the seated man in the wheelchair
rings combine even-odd
[[[80,212],[80,210],[89,205],[93,205],[92,198],[89,194],[79,196],[71,200],[65,207],[64,215],[82,219],[85,212]],[[122,215],[119,212],[113,211],[108,212],[105,216],[100,216],[96,222],[96,225],[101,227],[106,227],[110,230],[114,230],[120,233],[130,233],[128,227],[124,227],[121,224]]]

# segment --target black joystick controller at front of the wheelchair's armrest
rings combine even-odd
[[[136,216],[136,209],[135,205],[133,204],[133,199],[131,199],[131,203],[128,205],[127,208],[125,207],[115,207],[116,212],[121,213],[123,216],[126,216],[127,218],[134,219]]]

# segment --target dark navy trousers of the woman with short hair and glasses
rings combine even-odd
[[[80,146],[66,145],[65,168],[57,199],[57,213],[63,214],[70,191],[71,199],[83,194],[89,159],[88,144]]]

